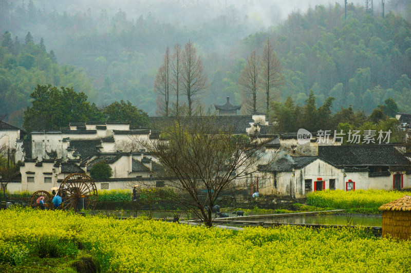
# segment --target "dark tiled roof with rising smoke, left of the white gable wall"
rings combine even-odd
[[[292,169],[302,169],[317,159],[316,156],[285,156],[268,165],[259,165],[258,169],[266,172],[291,172]]]

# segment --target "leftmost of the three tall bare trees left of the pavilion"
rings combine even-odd
[[[157,93],[157,114],[169,116],[170,103],[170,50],[165,49],[163,65],[158,69],[154,91]]]

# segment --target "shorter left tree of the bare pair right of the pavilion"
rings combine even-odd
[[[257,93],[260,86],[259,62],[260,58],[254,50],[248,57],[246,67],[241,71],[238,79],[238,83],[243,89],[243,104],[249,113],[257,112]]]

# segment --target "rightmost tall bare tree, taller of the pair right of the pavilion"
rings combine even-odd
[[[275,56],[270,40],[267,39],[261,57],[262,87],[266,92],[266,112],[269,111],[271,90],[278,88],[281,82],[281,66],[277,56]]]

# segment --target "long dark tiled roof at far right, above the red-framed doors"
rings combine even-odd
[[[334,166],[410,165],[392,145],[319,146],[318,157]]]

